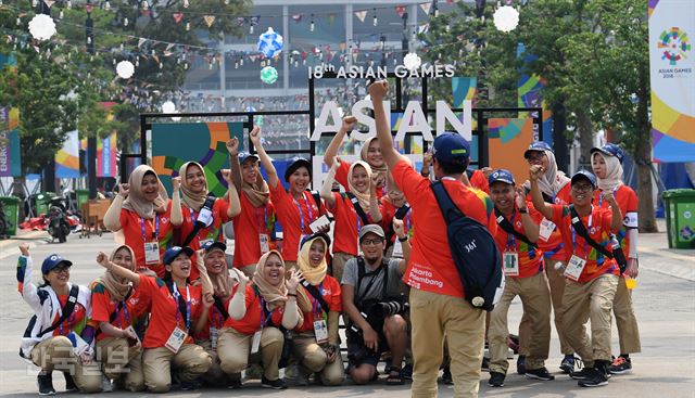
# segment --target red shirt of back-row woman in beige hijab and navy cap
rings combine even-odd
[[[268,248],[273,249],[270,242],[273,227],[275,224],[275,207],[268,201],[265,206],[253,207],[244,192],[239,195],[241,213],[233,218],[235,237],[239,244],[235,245],[235,261],[237,268],[252,266],[258,262],[261,253],[261,234],[268,237]]]

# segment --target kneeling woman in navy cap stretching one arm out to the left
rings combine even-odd
[[[191,335],[207,324],[213,305],[212,292],[190,284],[190,247],[172,246],[164,253],[165,277],[149,277],[119,267],[104,253],[97,262],[115,277],[132,283],[142,296],[151,297],[150,324],[142,341],[144,385],[151,393],[166,393],[172,386],[172,369],[181,381],[181,389],[197,388],[212,359]]]

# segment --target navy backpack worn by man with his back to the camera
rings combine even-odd
[[[467,217],[452,201],[441,181],[430,185],[446,222],[446,236],[466,299],[492,311],[504,290],[502,255],[483,224]]]

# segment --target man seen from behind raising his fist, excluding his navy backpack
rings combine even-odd
[[[382,100],[386,81],[369,86],[374,102],[377,137],[381,154],[413,207],[413,253],[404,281],[410,286],[413,324],[413,396],[437,395],[437,374],[442,363],[442,345],[447,337],[456,397],[477,397],[483,357],[485,314],[463,299],[464,286],[448,247],[446,222],[429,179],[417,172],[409,161],[393,147],[391,128]],[[470,156],[470,144],[456,133],[442,133],[433,143],[433,170],[452,200],[468,217],[497,230],[493,205],[484,192],[462,182]],[[345,295],[345,292],[343,292]]]

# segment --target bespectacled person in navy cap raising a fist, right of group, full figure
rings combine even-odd
[[[586,239],[581,230],[596,245],[612,246],[612,234],[622,226],[620,207],[612,192],[605,192],[604,200],[610,209],[592,206],[596,190],[596,177],[580,170],[571,178],[570,206],[551,205],[545,202],[539,179],[545,174],[541,165],[529,170],[533,206],[560,230],[568,262],[564,275],[567,278],[563,296],[563,328],[568,344],[573,347],[584,362],[584,369],[570,373],[580,387],[597,387],[608,384],[610,365],[610,311],[618,288],[620,269],[615,259],[604,256]],[[580,227],[579,223],[583,227]],[[580,228],[578,230],[577,228]],[[570,249],[571,248],[571,249]],[[591,319],[591,339],[584,324]]]

